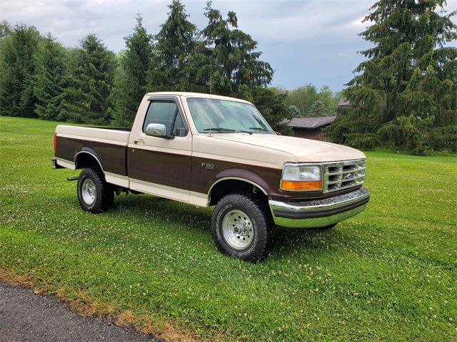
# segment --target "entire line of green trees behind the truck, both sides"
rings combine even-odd
[[[96,34],[65,48],[32,26],[0,23],[0,115],[131,125],[144,93],[196,91],[251,100],[273,129],[291,134],[293,116],[332,115],[326,129],[333,142],[368,150],[387,147],[424,154],[457,151],[457,26],[443,10],[446,1],[379,0],[360,36],[373,44],[341,93],[305,85],[268,88],[270,64],[257,42],[226,16],[206,5],[205,28],[188,20],[179,0],[159,33],[141,16],[124,38],[125,49],[109,51]]]

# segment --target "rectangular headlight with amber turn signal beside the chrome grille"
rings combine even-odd
[[[280,188],[286,191],[322,190],[321,167],[316,165],[284,165]]]

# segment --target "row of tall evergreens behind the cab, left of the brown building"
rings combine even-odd
[[[139,14],[118,55],[94,33],[65,48],[51,33],[2,21],[0,115],[129,127],[147,92],[211,91],[251,100],[275,130],[291,133],[286,94],[267,88],[273,68],[235,12],[223,16],[209,1],[201,31],[181,1],[168,14],[155,35]]]

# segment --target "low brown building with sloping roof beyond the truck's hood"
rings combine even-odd
[[[330,141],[323,136],[323,128],[335,121],[336,116],[319,116],[316,118],[293,118],[288,126],[293,129],[295,136],[321,141]]]

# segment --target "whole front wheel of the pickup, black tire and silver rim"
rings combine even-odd
[[[211,217],[211,232],[218,249],[244,261],[266,257],[274,229],[266,206],[248,195],[226,195]]]

